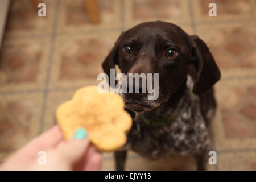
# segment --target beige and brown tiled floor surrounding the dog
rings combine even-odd
[[[0,52],[0,161],[54,125],[56,107],[77,88],[97,84],[100,63],[123,30],[159,19],[199,35],[221,68],[212,123],[218,162],[208,169],[256,170],[256,1],[100,1],[100,24],[89,23],[82,0],[44,2],[46,18],[28,0],[11,4]],[[208,16],[210,2],[217,17]],[[152,162],[130,152],[126,168],[184,170],[195,162]],[[112,154],[104,154],[103,169],[114,169]]]

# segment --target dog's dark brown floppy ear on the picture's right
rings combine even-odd
[[[192,46],[191,63],[195,65],[197,71],[193,93],[202,94],[220,80],[221,73],[203,40],[196,35],[189,38]]]

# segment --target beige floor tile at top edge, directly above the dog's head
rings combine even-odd
[[[187,1],[126,0],[124,6],[127,27],[154,20],[172,23],[189,22],[190,20]]]

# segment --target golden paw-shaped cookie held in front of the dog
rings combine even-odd
[[[99,93],[98,89],[87,86],[77,90],[71,100],[57,108],[57,122],[65,139],[83,127],[98,150],[114,151],[126,143],[132,119],[118,94]]]

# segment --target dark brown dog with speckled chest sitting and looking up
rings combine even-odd
[[[157,99],[121,94],[133,126],[125,147],[114,153],[115,168],[124,170],[127,150],[133,150],[148,159],[192,154],[197,169],[205,170],[217,106],[213,85],[221,73],[203,40],[172,23],[144,22],[122,32],[102,68],[110,76],[115,65],[125,75],[159,74]]]

